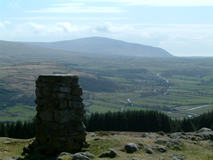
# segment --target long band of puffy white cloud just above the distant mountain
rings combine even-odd
[[[4,23],[0,22],[0,27],[4,27]],[[69,34],[85,34],[87,35],[125,35],[137,37],[140,39],[160,39],[162,43],[183,42],[193,43],[195,41],[205,41],[212,43],[213,25],[206,24],[114,24],[105,22],[93,25],[75,25],[70,22],[57,22],[55,24],[38,24],[35,22],[27,22],[17,26],[16,31],[23,35],[69,35]],[[160,42],[159,42],[160,43]]]

